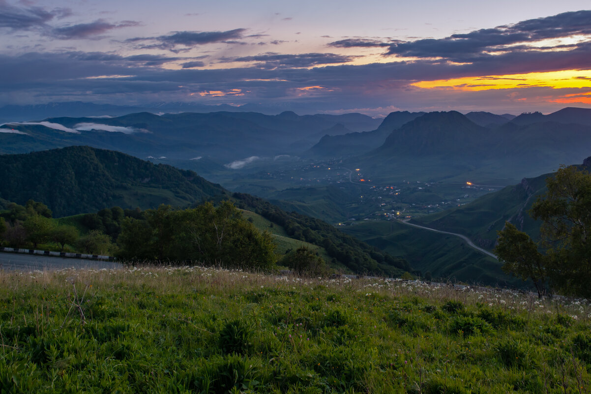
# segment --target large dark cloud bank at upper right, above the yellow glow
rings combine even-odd
[[[394,43],[386,54],[407,57],[443,57],[454,61],[470,61],[475,57],[488,56],[489,53],[506,50],[539,51],[531,46],[531,41],[547,38],[564,38],[574,34],[591,34],[591,11],[573,11],[552,17],[538,18],[481,29],[466,34],[453,34],[440,39],[423,39]]]

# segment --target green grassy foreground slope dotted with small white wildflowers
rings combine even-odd
[[[589,392],[589,306],[202,267],[0,272],[0,391]]]

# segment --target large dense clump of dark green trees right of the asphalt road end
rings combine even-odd
[[[126,218],[118,238],[119,256],[129,260],[200,261],[209,265],[268,270],[275,263],[274,244],[226,201],[214,207],[173,211],[170,206]]]

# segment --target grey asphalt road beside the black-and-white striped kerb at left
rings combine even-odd
[[[0,253],[0,270],[57,270],[63,268],[121,268],[121,263],[102,260],[64,259],[34,254]]]

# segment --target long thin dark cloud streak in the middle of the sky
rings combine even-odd
[[[222,62],[256,62],[258,67],[264,69],[313,67],[320,64],[347,63],[357,56],[340,55],[335,53],[301,53],[279,54],[263,53],[255,56],[225,57]]]

